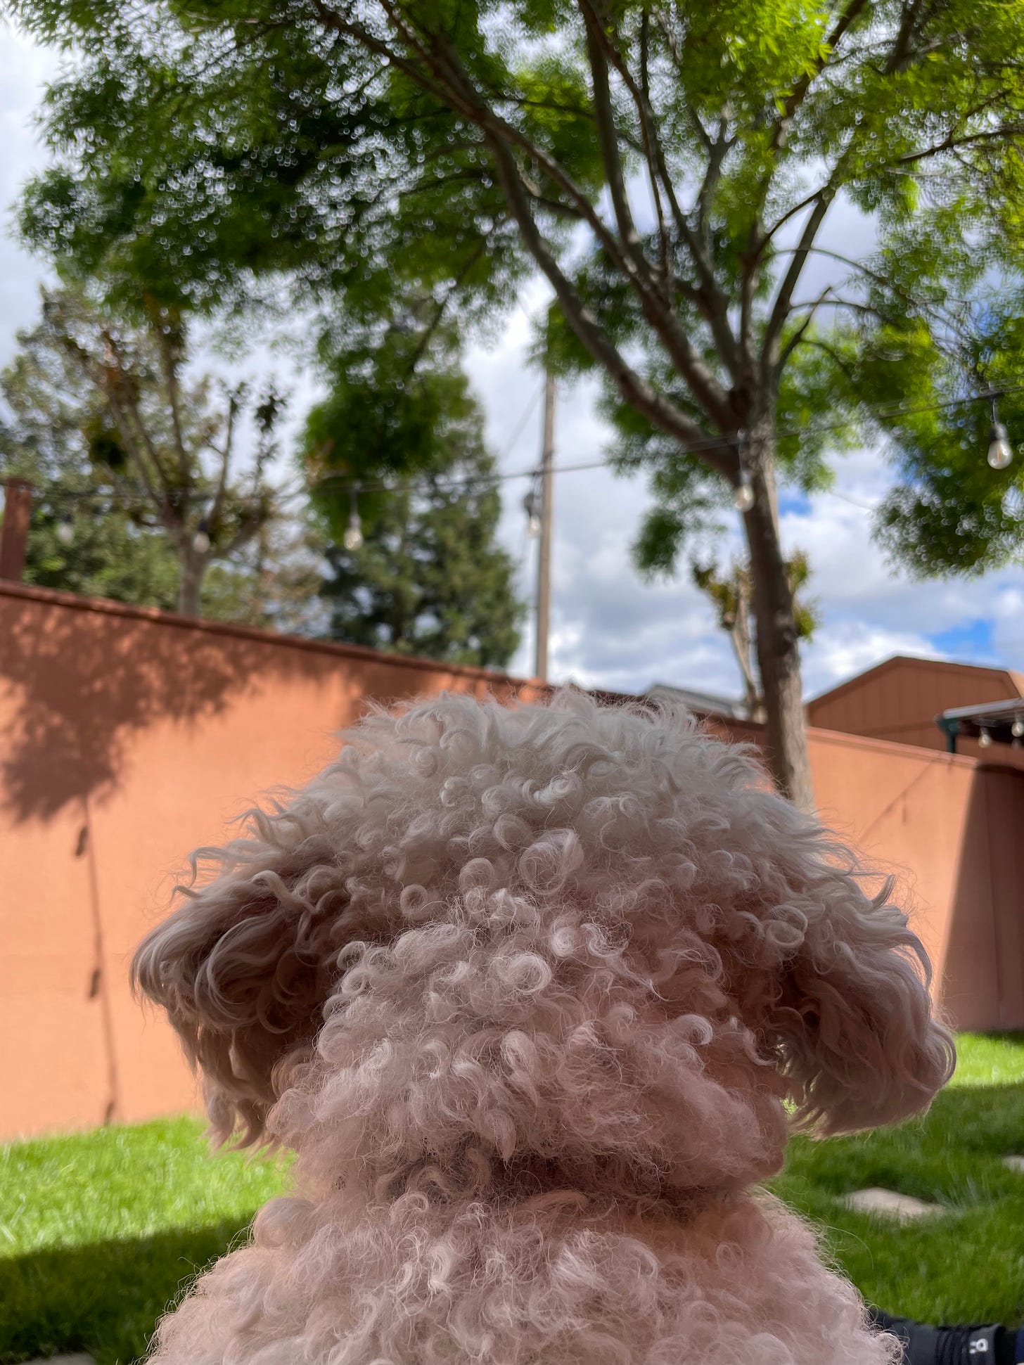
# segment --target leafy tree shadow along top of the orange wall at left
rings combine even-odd
[[[478,669],[23,590],[0,592],[0,803],[15,822],[102,800],[128,781],[132,734],[161,721],[198,725],[243,692],[329,684],[329,706],[287,718],[296,733],[326,734],[352,723],[370,698],[444,687],[508,698],[520,688]]]

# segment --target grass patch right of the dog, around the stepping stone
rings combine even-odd
[[[1024,1035],[961,1035],[952,1084],[923,1119],[862,1137],[789,1147],[776,1193],[825,1228],[864,1297],[922,1321],[1024,1321]],[[898,1224],[841,1196],[881,1185],[937,1203]]]

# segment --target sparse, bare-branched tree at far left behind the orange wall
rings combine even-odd
[[[217,403],[186,377],[179,315],[149,303],[138,321],[81,291],[44,291],[40,324],[20,332],[0,377],[0,465],[29,478],[37,502],[26,576],[51,587],[199,614],[231,616],[246,566],[231,564],[273,513],[264,467],[281,400],[251,404],[253,468],[231,468],[244,389]],[[61,526],[74,541],[61,543]]]

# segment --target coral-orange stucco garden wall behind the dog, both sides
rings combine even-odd
[[[127,986],[184,856],[315,773],[367,699],[441,688],[538,692],[0,586],[0,1137],[195,1103]],[[826,818],[909,872],[954,1022],[1024,1025],[1024,774],[829,732],[811,752]]]

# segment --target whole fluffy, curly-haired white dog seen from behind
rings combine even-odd
[[[154,1361],[894,1358],[754,1186],[793,1127],[924,1108],[953,1048],[905,916],[748,751],[442,695],[210,854],[135,979],[295,1192]]]

